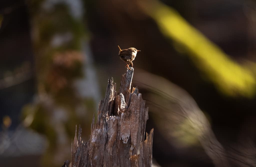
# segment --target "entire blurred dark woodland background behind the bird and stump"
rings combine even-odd
[[[0,162],[61,166],[135,47],[156,166],[255,166],[256,1],[0,2]]]

